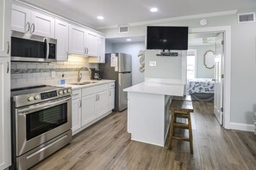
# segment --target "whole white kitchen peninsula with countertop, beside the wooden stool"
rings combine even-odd
[[[128,92],[128,132],[131,139],[165,146],[172,96],[184,95],[184,84],[141,82]]]

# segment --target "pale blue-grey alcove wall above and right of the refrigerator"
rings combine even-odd
[[[133,60],[133,85],[138,84],[140,82],[144,82],[144,72],[140,72],[140,58],[138,58],[138,53],[140,50],[145,50],[144,42],[131,42],[131,43],[117,43],[113,44],[112,52],[122,52],[132,55]]]

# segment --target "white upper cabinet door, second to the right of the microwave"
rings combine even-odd
[[[70,25],[69,27],[69,53],[85,54],[85,31],[81,27]]]

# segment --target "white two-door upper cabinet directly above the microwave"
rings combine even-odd
[[[13,4],[11,29],[54,38],[54,18]]]

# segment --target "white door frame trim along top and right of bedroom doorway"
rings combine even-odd
[[[231,26],[190,28],[189,33],[224,33],[223,127],[230,129],[231,100]]]

